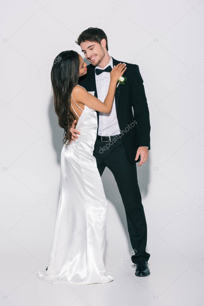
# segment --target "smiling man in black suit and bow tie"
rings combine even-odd
[[[87,91],[95,91],[95,96],[104,102],[109,88],[110,71],[119,61],[108,54],[107,36],[99,28],[83,31],[76,43],[91,62],[87,66],[87,74],[79,79],[78,84]],[[97,111],[98,135],[93,155],[100,175],[108,167],[115,177],[125,208],[131,245],[135,251],[131,257],[136,266],[135,275],[147,276],[150,275],[150,254],[146,252],[147,223],[138,186],[136,162],[141,166],[148,158],[150,118],[139,67],[126,64],[123,76],[127,79],[116,88],[110,114]],[[73,140],[78,138],[78,131],[70,131]]]

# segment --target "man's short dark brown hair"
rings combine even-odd
[[[106,39],[106,49],[108,51],[108,39],[106,33],[102,29],[90,27],[84,30],[75,42],[80,46],[80,43],[85,42],[85,40],[101,43],[103,38]]]

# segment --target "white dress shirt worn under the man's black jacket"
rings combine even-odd
[[[106,65],[106,67],[111,66],[113,69],[113,58],[110,57],[110,62]],[[105,69],[96,66],[95,68],[98,69]],[[97,75],[95,73],[96,79],[96,89],[98,99],[101,102],[104,102],[106,95],[108,93],[109,83],[110,83],[110,73],[109,72],[102,72],[101,74]],[[120,128],[117,120],[116,114],[116,105],[115,105],[115,97],[113,101],[113,107],[110,114],[105,114],[99,112],[99,122],[98,122],[98,135],[100,136],[112,136],[120,134]],[[148,147],[147,147],[148,148]]]

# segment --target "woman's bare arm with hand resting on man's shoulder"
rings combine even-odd
[[[108,93],[104,103],[97,99],[94,95],[91,95],[86,89],[75,86],[72,91],[72,95],[75,101],[83,103],[93,110],[98,110],[101,113],[109,114],[112,110],[113,100],[115,96],[115,90],[117,85],[117,80],[123,75],[126,70],[126,64],[117,64],[110,72],[110,83]]]

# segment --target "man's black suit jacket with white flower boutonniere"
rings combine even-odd
[[[113,58],[113,66],[118,63],[120,62]],[[121,63],[123,62],[121,61]],[[126,67],[127,69],[123,76],[126,76],[127,80],[124,85],[119,84],[116,88],[115,105],[118,124],[123,134],[122,139],[124,147],[129,161],[134,164],[140,161],[140,156],[139,159],[135,161],[138,147],[146,146],[150,150],[150,115],[143,79],[139,72],[138,65],[126,63]],[[95,91],[95,97],[98,98],[95,81],[95,66],[92,64],[87,66],[87,74],[79,78],[78,84],[86,88],[87,91]],[[134,114],[132,112],[132,107]],[[99,120],[99,112],[96,112]],[[95,142],[95,147],[96,143],[97,140]],[[105,144],[104,142],[104,145]]]

